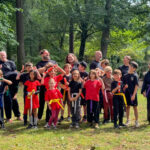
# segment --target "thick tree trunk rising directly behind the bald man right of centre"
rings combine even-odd
[[[107,15],[104,17],[105,26],[102,31],[102,39],[101,39],[101,51],[102,51],[104,58],[106,58],[108,44],[110,40],[111,3],[112,3],[112,0],[106,0],[105,10],[106,10]]]

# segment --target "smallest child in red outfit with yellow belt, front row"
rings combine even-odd
[[[55,85],[55,80],[51,78],[49,80],[49,90],[46,91],[45,95],[45,101],[47,101],[47,105],[52,113],[48,122],[48,129],[51,127],[52,123],[54,123],[54,129],[56,129],[60,108],[63,109],[61,104],[61,99],[63,96],[60,91],[55,88]]]

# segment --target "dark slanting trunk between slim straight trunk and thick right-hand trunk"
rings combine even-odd
[[[86,39],[87,39],[87,24],[86,23],[82,23],[81,24],[81,44],[80,44],[80,50],[79,50],[79,60],[82,61],[83,57],[84,57],[84,51],[85,51],[85,43],[86,43]]]

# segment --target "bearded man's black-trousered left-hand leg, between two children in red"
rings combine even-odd
[[[38,119],[41,119],[44,111],[44,105],[45,105],[45,86],[41,86],[40,88],[39,104],[40,107],[38,109]]]

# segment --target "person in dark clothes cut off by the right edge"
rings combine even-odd
[[[150,125],[150,62],[148,64],[149,71],[144,77],[141,93],[147,98],[147,120]]]

